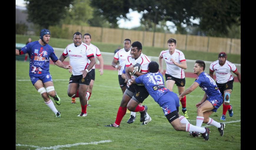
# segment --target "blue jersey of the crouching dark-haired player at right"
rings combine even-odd
[[[197,79],[195,79],[195,82],[199,84],[199,86],[205,91],[207,94],[207,97],[220,97],[221,93],[220,90],[215,83],[215,81],[210,77],[209,74],[202,72]]]

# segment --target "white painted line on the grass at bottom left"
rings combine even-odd
[[[72,147],[72,146],[78,146],[78,145],[88,145],[88,144],[101,144],[101,143],[108,143],[112,142],[111,140],[104,140],[104,141],[97,141],[97,142],[90,142],[90,143],[75,143],[75,144],[66,144],[66,145],[56,145],[56,146],[50,146],[50,147],[40,147],[40,146],[34,146],[34,145],[24,145],[24,144],[16,144],[16,146],[27,146],[27,147],[34,147],[37,148],[36,150],[44,150],[44,149],[54,149],[57,150],[59,148],[64,147]]]

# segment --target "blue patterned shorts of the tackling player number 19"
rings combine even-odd
[[[177,110],[177,107],[179,107],[179,98],[177,94],[170,91],[162,95],[157,103],[163,109],[164,116],[166,116],[169,113]]]

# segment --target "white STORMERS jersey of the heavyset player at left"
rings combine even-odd
[[[81,75],[82,72],[80,71],[85,70],[89,65],[88,58],[94,57],[93,51],[89,50],[88,45],[85,43],[82,43],[77,47],[74,43],[69,44],[64,50],[62,56],[69,56],[70,65],[72,66],[72,74],[74,76]]]

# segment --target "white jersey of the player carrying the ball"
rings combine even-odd
[[[141,53],[140,56],[135,60],[134,58],[132,58],[131,55],[129,55],[125,63],[125,67],[129,67],[131,64],[135,65],[136,63],[140,64],[142,73],[145,73],[145,74],[148,73],[148,65],[150,63],[150,59],[148,58],[148,56]],[[131,76],[131,77],[137,78],[137,76]]]

